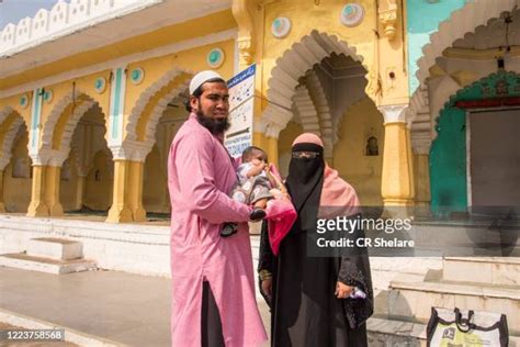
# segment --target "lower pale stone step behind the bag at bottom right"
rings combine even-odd
[[[392,281],[388,316],[427,323],[431,307],[475,310],[507,315],[509,331],[520,335],[520,290],[515,287]]]

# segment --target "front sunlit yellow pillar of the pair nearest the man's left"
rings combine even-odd
[[[106,222],[125,223],[133,221],[132,210],[128,205],[129,170],[129,160],[114,160],[114,192]]]

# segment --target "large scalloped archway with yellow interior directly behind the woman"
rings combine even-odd
[[[381,205],[383,116],[365,92],[366,75],[354,48],[337,36],[313,31],[276,60],[268,82],[271,104],[261,122],[281,128],[282,175],[287,172],[293,139],[312,132],[323,138],[326,160],[352,183],[361,203]],[[378,147],[370,155],[369,138]]]

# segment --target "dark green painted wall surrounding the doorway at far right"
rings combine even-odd
[[[437,119],[438,137],[430,149],[430,189],[433,213],[467,210],[466,115],[454,107],[462,100],[520,96],[520,75],[493,74],[450,98]]]

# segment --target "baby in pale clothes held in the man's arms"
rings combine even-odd
[[[239,202],[252,205],[249,215],[251,221],[259,221],[265,216],[268,200],[273,198],[271,189],[276,186],[268,175],[268,155],[256,146],[247,147],[242,152],[242,164],[237,168],[238,184],[230,197]],[[223,237],[237,232],[235,223],[226,223],[221,231]]]

